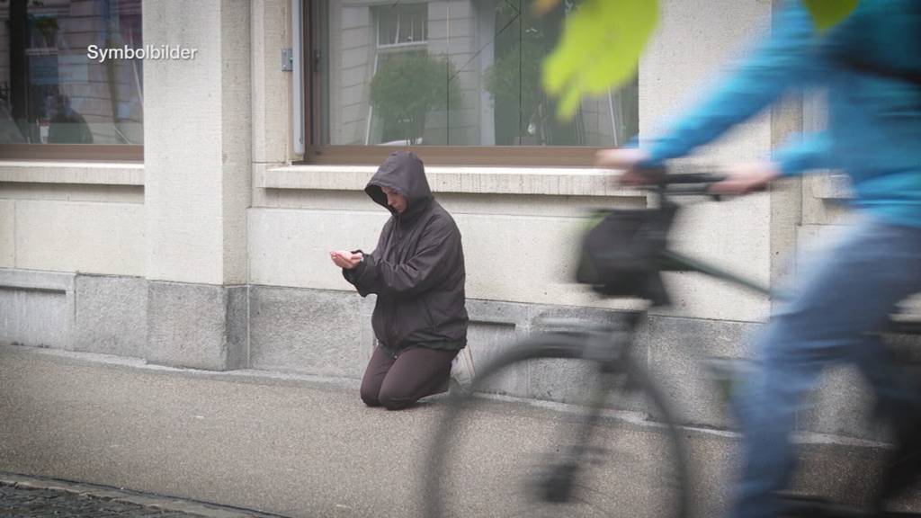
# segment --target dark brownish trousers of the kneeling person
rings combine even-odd
[[[426,395],[448,391],[451,360],[458,351],[416,347],[396,358],[375,347],[361,379],[361,399],[367,406],[399,410]]]

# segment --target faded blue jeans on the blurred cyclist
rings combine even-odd
[[[921,229],[864,217],[797,276],[797,286],[758,340],[760,361],[736,401],[743,465],[734,518],[774,517],[775,492],[795,464],[788,441],[802,396],[826,366],[857,366],[880,400],[892,383],[878,336],[897,302],[921,291]]]

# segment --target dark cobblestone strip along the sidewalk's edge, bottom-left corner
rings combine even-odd
[[[284,518],[194,500],[0,472],[0,518]]]

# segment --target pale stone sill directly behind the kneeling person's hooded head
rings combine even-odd
[[[377,166],[291,165],[266,170],[265,189],[361,191]],[[611,171],[572,168],[426,167],[436,193],[636,196],[611,181]]]

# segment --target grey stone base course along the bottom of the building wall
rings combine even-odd
[[[0,341],[116,354],[159,365],[210,371],[240,368],[360,379],[374,347],[374,298],[344,290],[272,286],[222,287],[0,269]],[[75,302],[76,300],[76,302]],[[592,322],[618,311],[468,300],[468,347],[474,369],[541,330],[544,318]],[[656,376],[682,424],[734,426],[707,357],[744,359],[761,324],[649,315],[634,353]],[[908,351],[916,337],[904,337]],[[914,347],[907,347],[914,346]],[[914,356],[912,358],[915,358]],[[507,371],[488,392],[579,403],[593,375],[585,362],[535,361]],[[830,371],[817,405],[799,414],[798,429],[872,440],[869,393],[851,371]],[[648,411],[640,401],[612,407]],[[651,412],[650,412],[651,413]]]

